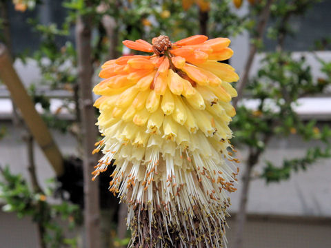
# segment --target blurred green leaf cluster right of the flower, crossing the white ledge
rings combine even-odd
[[[292,59],[288,52],[273,52],[261,61],[257,76],[246,87],[249,99],[257,101],[257,109],[252,110],[244,104],[237,107],[237,116],[232,123],[236,134],[234,143],[247,145],[254,156],[265,151],[273,136],[293,138],[296,134],[304,142],[314,140],[321,143],[321,146],[310,147],[303,158],[286,158],[283,162],[268,161],[267,158],[261,174],[267,182],[288,179],[292,171],[305,169],[319,158],[331,156],[328,125],[320,130],[317,121],[303,121],[295,112],[301,97],[321,94],[330,83],[328,71],[325,78],[314,79],[304,56]]]

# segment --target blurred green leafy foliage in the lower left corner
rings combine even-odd
[[[44,229],[43,241],[47,247],[77,247],[77,238],[68,238],[68,231],[73,231],[81,223],[81,211],[77,205],[66,201],[52,203],[54,180],[48,181],[43,192],[34,192],[21,174],[13,174],[9,167],[0,168],[0,199],[6,205],[2,210],[14,212],[18,218],[30,217]],[[68,225],[64,225],[68,223]],[[77,234],[76,234],[77,235]]]

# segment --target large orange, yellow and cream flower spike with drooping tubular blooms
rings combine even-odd
[[[228,124],[239,77],[217,62],[232,56],[230,40],[123,43],[152,55],[101,67],[94,106],[104,137],[94,152],[103,157],[92,174],[115,161],[110,192],[129,206],[133,247],[223,247],[227,192],[238,174]]]

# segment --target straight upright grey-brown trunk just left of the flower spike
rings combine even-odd
[[[88,2],[87,2],[88,3]],[[87,4],[88,5],[88,4]],[[76,43],[79,69],[79,107],[81,112],[81,135],[83,136],[83,176],[84,176],[84,221],[86,248],[99,248],[100,243],[100,209],[99,183],[92,182],[91,172],[97,164],[97,156],[92,156],[94,143],[97,140],[97,129],[94,123],[92,106],[92,49],[91,19],[79,16],[76,24]]]

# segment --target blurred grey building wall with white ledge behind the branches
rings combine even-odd
[[[57,19],[55,10],[59,8],[57,1],[46,1],[46,9],[36,10],[34,14],[45,23]],[[52,11],[51,11],[52,10]],[[289,41],[286,48],[297,51],[295,56],[301,54],[308,55],[308,63],[312,66],[314,76],[321,76],[319,67],[316,63],[316,57],[331,61],[331,52],[317,52],[311,54],[306,52],[310,50],[312,40],[310,37],[319,38],[319,34],[325,34],[330,31],[331,23],[331,2],[317,4],[317,7],[310,10],[303,19],[296,19],[299,36],[296,40]],[[241,8],[241,12],[247,11],[247,6]],[[14,17],[22,18],[22,17]],[[312,21],[313,20],[313,21]],[[23,50],[21,35],[29,36],[29,33],[21,25],[23,21],[17,20],[14,23],[14,48]],[[319,23],[319,25],[314,25]],[[21,31],[23,34],[21,33]],[[327,31],[328,30],[328,31]],[[314,35],[313,35],[314,34]],[[309,39],[308,39],[309,38]],[[30,41],[33,45],[38,43],[38,37],[33,37]],[[59,41],[61,42],[61,41]],[[272,43],[267,43],[268,48],[272,49]],[[235,51],[233,59],[230,61],[234,68],[240,73],[243,70],[243,63],[248,54],[248,34],[243,34],[232,41],[232,49]],[[260,55],[254,61],[252,74],[256,72]],[[20,61],[15,63],[15,67],[26,85],[39,81],[39,71],[36,66],[28,61],[23,65]],[[64,92],[47,92],[54,99],[51,101],[51,110],[55,112],[61,105],[61,96]],[[0,166],[9,165],[14,173],[21,173],[27,176],[27,150],[22,141],[24,133],[22,127],[12,125],[12,105],[9,100],[9,93],[3,85],[0,85],[0,127],[5,126],[6,136],[0,140]],[[301,105],[297,107],[297,112],[307,120],[316,119],[318,125],[330,125],[331,123],[331,98],[330,96],[310,97],[301,99]],[[244,104],[251,105],[254,108],[254,102],[245,101]],[[70,114],[64,112],[63,118],[69,118]],[[75,154],[77,143],[70,134],[62,134],[54,131],[53,136],[59,145],[61,152],[65,155]],[[312,142],[304,143],[296,135],[289,139],[273,138],[267,151],[263,154],[259,165],[255,167],[256,174],[261,172],[264,166],[264,159],[268,158],[279,164],[283,158],[294,158],[303,156],[304,152],[310,147]],[[41,150],[35,145],[35,155],[37,164],[37,174],[41,185],[43,182],[54,176],[48,161],[41,153]],[[245,150],[239,151],[241,161],[245,162]],[[263,180],[253,180],[248,200],[248,223],[245,226],[245,248],[283,248],[283,247],[331,247],[331,159],[321,160],[318,163],[308,167],[306,171],[292,173],[289,180],[281,183],[272,183],[267,185]],[[243,167],[243,166],[242,166]],[[243,172],[243,170],[241,171]],[[240,174],[239,174],[240,178]],[[105,189],[106,190],[106,189]],[[241,185],[236,193],[231,194],[232,206],[228,218],[227,238],[228,247],[231,247],[234,238],[234,216],[239,205],[239,192]],[[1,204],[1,203],[0,203]],[[29,219],[18,220],[14,214],[7,214],[0,211],[0,247],[37,247],[36,227]]]

